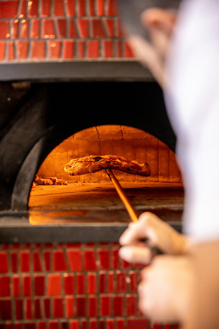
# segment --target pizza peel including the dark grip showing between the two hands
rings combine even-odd
[[[121,187],[119,181],[117,180],[117,178],[115,177],[115,175],[113,174],[112,170],[110,168],[105,168],[109,179],[111,180],[111,182],[113,183],[117,193],[119,194],[119,197],[121,198],[122,202],[124,203],[124,206],[126,207],[131,219],[136,222],[138,221],[138,217],[136,215],[135,209],[131,203],[131,201],[129,200],[125,190]],[[141,239],[141,242],[145,242],[147,243],[147,239]],[[150,248],[151,250],[151,255],[152,258],[156,255],[161,255],[163,254],[163,252],[156,246],[149,246],[147,244],[147,246]]]

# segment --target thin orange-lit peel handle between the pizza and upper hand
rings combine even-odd
[[[105,168],[105,170],[106,170],[111,182],[114,184],[117,193],[119,194],[120,198],[122,199],[130,217],[132,218],[132,220],[134,222],[136,222],[138,220],[138,217],[137,217],[137,215],[133,209],[133,206],[132,206],[131,202],[129,201],[124,189],[121,187],[120,183],[118,182],[117,178],[113,174],[112,170],[110,168]]]

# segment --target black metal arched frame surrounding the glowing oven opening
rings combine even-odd
[[[25,211],[34,176],[62,140],[92,126],[142,129],[175,150],[155,82],[0,83],[0,211]]]

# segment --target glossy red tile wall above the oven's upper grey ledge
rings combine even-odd
[[[132,59],[116,0],[0,0],[0,63]]]

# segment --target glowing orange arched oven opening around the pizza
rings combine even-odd
[[[45,158],[30,192],[31,224],[130,221],[104,169],[79,176],[64,172],[65,164],[71,159],[90,155],[122,156],[149,164],[149,177],[113,170],[138,215],[153,211],[171,220],[171,216],[178,219],[176,213],[182,214],[183,183],[175,153],[143,130],[102,125],[68,137]]]

